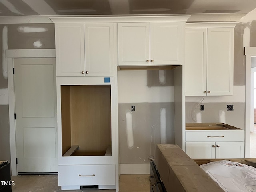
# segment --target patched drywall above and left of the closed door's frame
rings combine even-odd
[[[54,24],[0,25],[0,160],[10,161],[6,49],[55,48]]]

